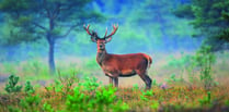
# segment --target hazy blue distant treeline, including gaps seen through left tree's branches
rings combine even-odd
[[[39,12],[43,9],[35,9],[30,7],[20,7],[26,9],[22,11],[23,21],[20,17],[10,12],[10,5],[5,2],[13,0],[1,0],[1,34],[0,34],[0,60],[21,60],[34,57],[47,57],[49,43],[46,40],[45,33],[37,37],[38,39],[21,38],[19,35],[21,30],[19,24],[15,25],[11,22],[19,18],[20,22],[27,21],[25,24],[37,21],[37,16],[34,17],[34,12]],[[21,0],[20,0],[21,1]],[[25,0],[26,1],[26,0]],[[33,0],[28,0],[33,1]],[[181,5],[193,5],[195,0],[72,0],[76,7],[82,3],[84,7],[80,11],[73,9],[72,12],[62,12],[62,15],[55,23],[64,26],[57,26],[54,28],[53,36],[64,34],[76,22],[80,23],[68,36],[65,38],[56,39],[55,41],[55,57],[61,55],[93,55],[96,53],[96,45],[90,41],[90,37],[83,30],[83,24],[91,24],[91,29],[98,32],[102,37],[104,36],[105,28],[108,28],[108,33],[112,32],[112,24],[119,25],[117,33],[113,36],[111,43],[107,43],[107,51],[114,53],[130,53],[130,52],[168,52],[178,50],[195,50],[202,43],[205,35],[197,35],[202,38],[193,38],[198,32],[197,28],[193,28],[191,22],[195,18],[186,18],[178,16],[178,10]],[[34,2],[36,3],[36,2]],[[39,2],[37,2],[37,5]],[[64,1],[47,0],[48,8],[55,8],[56,4],[64,4]],[[35,5],[35,4],[34,4]],[[20,9],[19,8],[19,9]],[[28,10],[28,11],[27,11]],[[20,10],[21,11],[21,10]],[[90,12],[90,14],[89,14]],[[93,13],[93,14],[92,14]],[[66,16],[67,14],[67,16]],[[68,16],[72,14],[72,16]],[[26,15],[26,17],[24,17]],[[27,15],[33,16],[27,18]],[[65,18],[68,17],[68,18]],[[72,20],[72,18],[78,20]],[[92,18],[92,20],[90,20]],[[39,16],[38,21],[45,27],[48,26],[48,17]],[[30,22],[28,22],[30,21]],[[22,23],[21,23],[22,24]],[[24,24],[24,23],[23,23]],[[24,26],[23,26],[24,27]],[[23,29],[25,29],[25,27]],[[26,27],[28,28],[28,27]],[[31,28],[31,27],[30,27]],[[41,33],[41,29],[31,29],[31,33]],[[21,35],[23,36],[23,35]],[[37,36],[37,35],[36,35]],[[14,38],[14,39],[12,39]],[[13,40],[13,43],[12,43]],[[8,42],[11,41],[9,45]],[[15,42],[15,43],[14,43]]]

